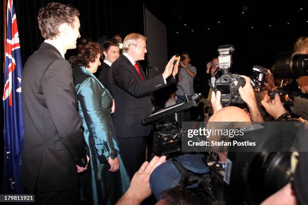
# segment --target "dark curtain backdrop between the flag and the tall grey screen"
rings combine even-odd
[[[132,32],[144,34],[143,5],[139,1],[121,0],[15,0],[23,63],[43,42],[38,29],[38,10],[50,2],[59,2],[80,11],[81,36],[97,41],[119,33],[122,38]],[[69,54],[70,52],[68,52]]]

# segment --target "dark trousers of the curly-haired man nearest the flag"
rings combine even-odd
[[[59,191],[40,192],[35,190],[36,204],[71,204],[80,203],[80,192],[78,184]]]

